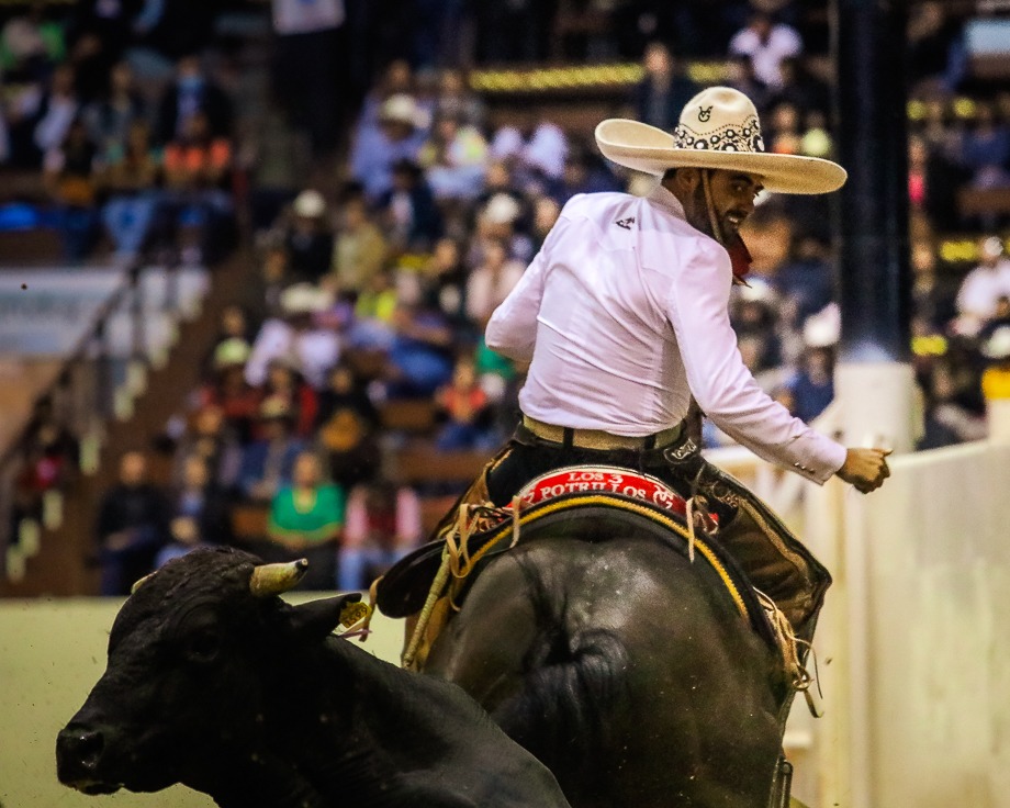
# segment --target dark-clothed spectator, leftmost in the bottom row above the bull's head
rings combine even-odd
[[[162,492],[147,481],[147,458],[138,451],[120,460],[120,479],[104,493],[96,534],[102,570],[102,595],[128,595],[149,573],[168,535]]]

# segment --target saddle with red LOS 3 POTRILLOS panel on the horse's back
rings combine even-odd
[[[519,542],[642,536],[692,561],[699,559],[699,574],[725,591],[754,631],[777,647],[766,605],[717,536],[694,529],[695,516],[684,497],[655,478],[616,467],[560,469],[527,484],[510,506],[462,505],[454,531],[418,548],[380,579],[375,602],[390,617],[412,617],[444,601],[436,618],[444,625],[449,610],[465,599],[480,570]],[[434,637],[426,644],[430,641]],[[413,662],[405,653],[404,664]]]

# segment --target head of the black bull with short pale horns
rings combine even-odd
[[[57,739],[60,782],[86,794],[209,790],[210,768],[255,759],[292,653],[322,642],[360,598],[285,604],[277,595],[306,566],[217,549],[139,582],[113,624],[105,673]]]

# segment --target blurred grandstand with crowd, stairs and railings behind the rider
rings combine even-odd
[[[834,157],[834,13],[0,2],[0,596],[122,596],[217,543],[310,554],[303,588],[367,587],[514,427],[525,369],[483,327],[561,205],[647,188],[599,156],[596,123],[671,130],[729,85],[768,149]],[[911,2],[895,46],[927,456],[995,437],[1010,400],[1010,2]],[[762,386],[828,430],[837,218],[830,199],[762,199],[731,304]],[[806,483],[710,424],[705,440],[804,524]],[[968,508],[945,491],[945,513]]]

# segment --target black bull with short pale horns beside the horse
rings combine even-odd
[[[86,794],[175,783],[235,808],[563,808],[553,776],[456,685],[330,632],[348,601],[277,594],[295,565],[197,551],[116,616],[104,675],[59,733]]]

